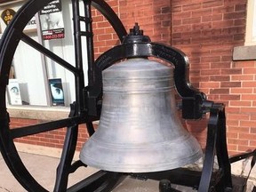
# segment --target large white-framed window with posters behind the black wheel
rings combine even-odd
[[[61,4],[61,17],[63,17],[65,37],[44,40],[41,28],[43,26],[40,25],[40,12],[38,12],[35,18],[28,23],[28,27],[24,29],[24,33],[39,44],[43,44],[45,48],[54,52],[63,60],[66,60],[68,63],[75,66],[71,2],[68,0],[54,2],[59,2]],[[8,4],[0,4],[0,13],[6,11],[8,13],[8,9],[17,12],[23,3],[24,1],[15,1]],[[83,10],[81,10],[81,12],[83,12]],[[8,23],[5,23],[3,19],[0,20],[1,31],[4,32],[4,28],[6,28],[6,24]],[[86,44],[84,40],[83,43]],[[84,52],[84,56],[85,54],[86,52]],[[84,59],[85,58],[86,57],[84,57]],[[86,72],[87,60],[83,61],[84,71]],[[19,108],[20,105],[23,107],[51,107],[55,105],[69,107],[69,104],[76,99],[74,75],[21,41],[12,60],[10,78],[9,87],[7,89],[9,107],[14,106],[15,108]],[[84,81],[85,84],[87,84],[86,73],[84,74]],[[18,91],[20,92],[18,96],[15,87],[18,88]],[[16,90],[16,92],[14,92],[14,90]],[[16,93],[14,98],[12,97],[12,93]],[[63,94],[63,102],[60,102],[60,97],[57,97],[57,99],[55,97],[55,100],[53,93],[58,93],[59,96]]]

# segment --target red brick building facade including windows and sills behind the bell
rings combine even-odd
[[[2,1],[1,12],[8,8],[18,9],[24,3],[24,1],[8,2]],[[204,92],[208,100],[226,105],[230,156],[256,148],[256,57],[250,54],[256,44],[254,1],[108,0],[106,2],[122,20],[127,31],[138,22],[144,34],[150,36],[153,42],[171,45],[188,55],[191,84]],[[68,0],[62,0],[61,4],[64,38],[44,40],[41,36],[42,28],[41,31],[36,28],[29,29],[28,33],[48,49],[55,50],[65,60],[72,62],[75,56],[72,51],[74,44],[73,29],[70,28],[72,26],[70,3]],[[120,42],[115,31],[100,12],[93,9],[92,15],[94,52],[97,58],[100,53],[106,52]],[[4,23],[1,25],[4,26]],[[36,55],[33,50],[22,52],[27,48],[22,44],[19,46],[17,58],[13,60],[13,69],[14,79],[20,84],[23,102],[20,105],[13,105],[11,100],[8,100],[12,128],[68,116],[68,105],[74,100],[74,84],[69,84],[73,77],[65,69],[56,68],[49,60]],[[35,57],[28,60],[28,54],[31,52]],[[35,59],[41,63],[41,67],[33,72],[28,72],[23,66],[19,68],[16,64],[16,60],[19,63],[21,60],[27,68],[33,68]],[[52,102],[49,79],[61,79],[65,99],[61,105],[54,105]],[[26,95],[29,90],[35,91],[38,87],[40,87],[38,92]],[[188,131],[196,136],[202,148],[205,145],[207,118],[205,116],[200,121],[183,120]],[[79,130],[77,150],[80,150],[88,139],[85,126],[81,126]],[[18,139],[17,142],[61,148],[64,137],[65,129],[62,129],[28,136]]]

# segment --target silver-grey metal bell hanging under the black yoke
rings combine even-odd
[[[84,144],[84,164],[111,172],[158,172],[196,162],[197,140],[181,125],[172,68],[131,59],[103,71],[100,125]]]

